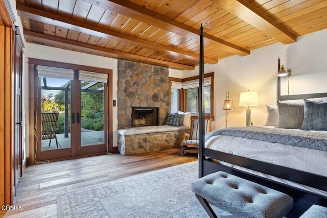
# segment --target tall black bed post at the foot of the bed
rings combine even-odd
[[[204,149],[204,63],[203,63],[203,27],[200,28],[200,60],[199,60],[199,178],[203,177]]]

